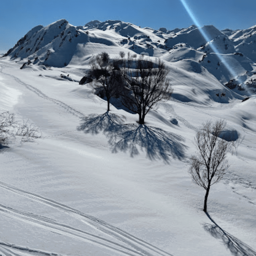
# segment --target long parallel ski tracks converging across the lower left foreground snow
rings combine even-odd
[[[146,242],[143,241],[140,238],[137,238],[136,236],[133,236],[120,228],[117,228],[115,226],[112,226],[103,220],[100,220],[99,218],[95,218],[91,215],[85,214],[79,210],[76,210],[75,208],[71,208],[67,205],[58,203],[54,200],[48,199],[46,197],[42,197],[40,195],[36,195],[34,193],[30,193],[27,191],[24,191],[22,189],[18,189],[16,187],[13,187],[11,185],[8,185],[6,183],[3,183],[0,181],[0,187],[2,189],[11,191],[13,193],[22,195],[28,199],[32,199],[36,202],[44,203],[48,206],[51,206],[57,210],[62,210],[66,213],[72,214],[75,218],[78,220],[83,221],[84,223],[93,226],[97,230],[103,232],[104,234],[119,240],[121,243],[126,244],[129,247],[132,247],[133,249],[122,245],[121,243],[114,242],[112,240],[102,238],[100,236],[85,232],[83,230],[74,228],[72,226],[59,223],[53,219],[46,218],[44,216],[39,216],[37,214],[33,214],[30,212],[24,212],[20,210],[13,209],[11,207],[6,207],[4,205],[0,205],[0,212],[1,214],[5,216],[11,216],[12,218],[15,218],[17,220],[23,221],[23,222],[29,222],[32,224],[36,224],[37,226],[40,226],[42,228],[45,228],[49,231],[55,231],[59,234],[69,236],[71,238],[75,238],[77,240],[87,241],[90,243],[95,243],[99,246],[107,247],[108,249],[118,251],[120,253],[124,253],[125,255],[142,255],[142,256],[156,256],[156,255],[162,255],[162,256],[173,256],[172,254]],[[0,242],[0,245],[2,243]],[[5,243],[7,244],[7,243]],[[13,245],[12,245],[13,246]],[[19,247],[18,249],[22,250],[30,250],[27,247]],[[49,255],[49,254],[48,254]]]

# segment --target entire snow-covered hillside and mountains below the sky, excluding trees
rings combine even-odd
[[[42,133],[0,146],[0,255],[256,256],[256,64],[253,48],[240,51],[254,27],[203,30],[236,77],[195,26],[63,19],[0,58],[0,114]],[[106,98],[79,84],[103,51],[168,68],[172,97],[145,125],[115,98],[106,112]],[[210,189],[207,216],[189,158],[202,123],[219,119],[230,167]]]

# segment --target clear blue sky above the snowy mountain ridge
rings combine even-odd
[[[256,24],[256,0],[186,0],[202,25],[219,30]],[[66,19],[75,26],[91,20],[122,20],[141,27],[186,28],[193,24],[180,0],[3,0],[0,3],[0,53],[31,28]]]

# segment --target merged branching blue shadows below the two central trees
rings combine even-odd
[[[113,113],[84,117],[77,129],[92,134],[103,131],[114,153],[129,151],[133,157],[139,154],[138,148],[141,148],[150,160],[162,159],[169,163],[170,157],[185,158],[186,146],[181,143],[184,141],[181,136],[156,127],[123,124],[123,120]]]

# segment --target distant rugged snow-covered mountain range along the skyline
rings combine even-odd
[[[236,31],[220,31],[214,26],[202,29],[240,81],[248,84],[252,80],[249,87],[255,88],[252,78],[256,74],[256,26]],[[199,67],[204,67],[223,84],[229,82],[228,85],[234,87],[238,83],[195,25],[154,30],[120,20],[94,20],[84,26],[73,26],[62,19],[46,27],[32,28],[3,57],[10,56],[17,61],[28,58],[33,64],[64,67],[88,64],[93,55],[102,51],[107,51],[113,58],[124,51],[159,57],[172,63],[189,59],[198,63],[193,64],[195,73]]]

